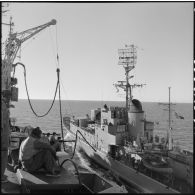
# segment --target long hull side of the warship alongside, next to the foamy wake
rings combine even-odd
[[[67,129],[71,134],[76,135],[76,129],[83,132],[79,127]],[[78,136],[79,137],[79,136]],[[99,150],[94,151],[80,136],[77,140],[77,149],[81,148],[87,156],[100,164],[105,169],[110,170],[115,176],[121,178],[138,192],[142,193],[177,193],[177,191],[167,188],[166,185],[153,180],[152,178],[138,173],[135,169],[123,164],[122,162],[108,156]]]

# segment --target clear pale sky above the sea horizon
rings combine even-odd
[[[60,68],[64,100],[125,101],[114,83],[125,79],[118,49],[135,44],[137,63],[131,84],[142,102],[193,102],[193,2],[142,3],[9,3],[14,32],[57,24],[25,41],[21,48],[31,99],[53,99]],[[2,26],[2,40],[8,27]],[[18,53],[19,54],[19,53]],[[57,61],[59,56],[59,63]],[[18,66],[19,99],[27,99],[22,67]]]

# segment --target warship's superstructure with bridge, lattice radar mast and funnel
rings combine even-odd
[[[141,142],[151,142],[153,138],[154,123],[146,121],[144,111],[139,100],[133,99],[132,89],[142,87],[144,84],[130,84],[130,71],[136,63],[136,47],[126,46],[119,49],[119,65],[125,69],[125,81],[118,81],[116,88],[126,92],[125,107],[108,107],[91,110],[90,117],[74,118],[70,129],[76,127],[87,130],[86,136],[99,150],[108,152],[110,145],[124,146],[125,143],[136,141],[139,147]],[[68,119],[69,120],[69,119]],[[106,139],[105,139],[106,137]]]

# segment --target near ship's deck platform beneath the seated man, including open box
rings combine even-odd
[[[59,164],[70,159],[66,152],[57,152]],[[75,158],[75,157],[74,157]],[[77,158],[77,157],[76,157]],[[74,161],[74,159],[73,159]],[[75,162],[75,161],[74,161]],[[124,189],[117,185],[112,185],[105,179],[93,172],[80,167],[77,163],[78,173],[69,160],[61,167],[60,176],[48,176],[40,169],[36,173],[28,173],[18,169],[15,173],[8,165],[5,175],[7,183],[2,184],[2,193],[124,193]]]

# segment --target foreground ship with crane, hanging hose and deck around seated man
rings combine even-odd
[[[24,77],[26,76],[25,65],[21,62],[15,62],[18,50],[21,48],[22,43],[32,38],[45,28],[56,25],[56,20],[25,30],[20,33],[13,32],[12,18],[10,23],[3,23],[9,26],[9,36],[4,43],[4,53],[2,56],[2,87],[1,87],[1,98],[5,101],[7,108],[14,108],[12,102],[18,101],[18,88],[17,78],[15,78],[15,69],[17,65],[24,67]],[[57,75],[59,78],[59,69],[57,69]],[[58,80],[59,81],[59,80]],[[25,78],[26,84],[26,78]],[[59,86],[57,83],[56,90]],[[27,89],[27,85],[26,85]],[[59,89],[60,93],[60,89]],[[27,92],[28,95],[28,92]],[[28,95],[29,98],[29,95]],[[30,103],[30,99],[29,103]],[[55,100],[55,98],[54,98]],[[61,102],[59,95],[59,102]],[[32,105],[30,104],[31,109]],[[61,104],[60,104],[61,106]],[[49,111],[51,110],[50,107]],[[46,113],[48,114],[49,111]],[[34,114],[35,111],[33,110]],[[61,107],[60,107],[61,112]],[[9,112],[8,112],[9,113]],[[46,115],[45,114],[45,115]],[[10,145],[8,148],[8,164],[5,170],[7,175],[8,183],[2,184],[2,193],[125,193],[127,192],[123,187],[111,183],[110,181],[103,178],[101,175],[93,171],[85,170],[82,172],[79,170],[79,165],[74,160],[74,155],[70,151],[66,150],[63,146],[66,140],[63,139],[63,129],[60,135],[61,151],[57,152],[58,164],[61,169],[59,177],[49,177],[44,170],[40,169],[36,173],[29,173],[25,171],[18,160],[19,148],[21,142],[26,139],[28,133],[32,127],[15,126],[13,123],[15,120],[10,118],[10,113],[6,120],[10,121]],[[41,116],[43,117],[43,115]],[[62,121],[62,120],[61,120]],[[2,122],[2,121],[1,121]],[[62,123],[61,123],[62,124]],[[61,125],[62,126],[62,125]],[[8,130],[8,129],[7,129]],[[73,140],[75,141],[75,140]],[[68,163],[67,163],[68,162]],[[73,167],[73,168],[72,168]],[[14,184],[13,184],[14,183]]]

